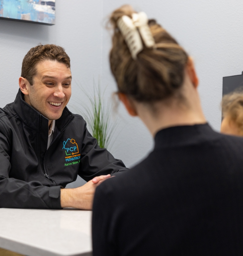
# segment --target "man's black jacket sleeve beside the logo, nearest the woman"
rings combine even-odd
[[[89,181],[100,175],[120,175],[121,172],[129,170],[124,163],[115,159],[105,148],[100,148],[97,140],[89,133],[86,123],[81,151],[79,175]]]

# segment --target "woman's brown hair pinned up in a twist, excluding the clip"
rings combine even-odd
[[[156,49],[148,49],[143,45],[143,50],[134,60],[117,26],[120,17],[127,15],[131,18],[134,12],[130,5],[124,5],[110,16],[109,23],[114,29],[110,51],[111,71],[118,92],[139,102],[153,103],[174,95],[182,86],[188,54],[152,19],[148,25]]]

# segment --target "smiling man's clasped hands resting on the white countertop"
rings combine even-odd
[[[82,210],[92,210],[96,187],[110,176],[110,174],[97,176],[79,188],[61,189],[61,207],[74,207]]]

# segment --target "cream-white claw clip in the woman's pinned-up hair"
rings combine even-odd
[[[123,15],[117,21],[117,25],[127,43],[133,59],[136,59],[137,54],[143,49],[141,38],[146,47],[154,47],[155,42],[150,28],[148,27],[148,18],[145,12],[133,13],[132,19]]]

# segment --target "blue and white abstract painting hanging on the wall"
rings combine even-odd
[[[55,0],[0,0],[0,18],[55,24]]]

